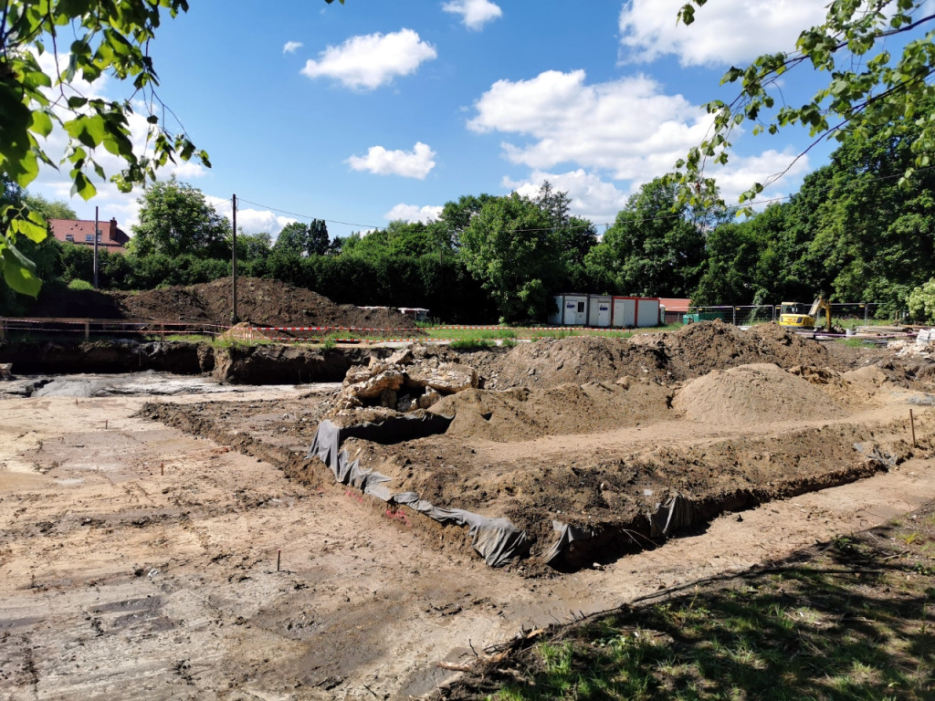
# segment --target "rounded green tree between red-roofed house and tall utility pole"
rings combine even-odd
[[[205,201],[205,195],[175,176],[152,183],[139,202],[131,250],[139,256],[191,253],[222,258],[230,252],[231,225]]]

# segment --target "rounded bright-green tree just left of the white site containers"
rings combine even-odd
[[[486,201],[460,233],[458,253],[508,321],[542,320],[561,281],[561,249],[549,215],[517,193]]]

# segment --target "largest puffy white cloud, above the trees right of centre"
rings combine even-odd
[[[682,95],[635,76],[587,85],[583,70],[498,80],[475,103],[468,128],[524,138],[505,142],[511,163],[546,169],[570,163],[613,179],[652,179],[671,170],[708,130],[711,117]]]

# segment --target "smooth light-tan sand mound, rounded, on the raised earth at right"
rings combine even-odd
[[[672,406],[697,422],[755,425],[833,418],[841,407],[808,379],[778,365],[741,365],[713,370],[685,385]]]

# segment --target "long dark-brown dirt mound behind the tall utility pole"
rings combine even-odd
[[[147,321],[229,322],[231,279],[136,294],[114,293],[127,317]],[[409,329],[411,320],[389,308],[337,305],[327,297],[273,279],[237,279],[237,316],[257,326],[339,326]]]

